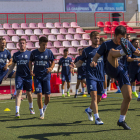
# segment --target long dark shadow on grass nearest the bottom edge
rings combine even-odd
[[[22,139],[36,139],[36,140],[49,140],[48,137],[53,137],[53,136],[71,136],[73,134],[83,134],[83,133],[100,133],[100,132],[105,132],[105,131],[118,131],[122,129],[108,129],[108,130],[100,130],[100,131],[84,131],[84,132],[58,132],[58,133],[43,133],[43,134],[33,134],[33,135],[24,135],[24,136],[19,136],[18,138]]]

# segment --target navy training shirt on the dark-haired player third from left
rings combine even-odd
[[[40,80],[50,80],[51,73],[47,73],[47,68],[51,66],[50,62],[54,61],[54,55],[51,50],[46,49],[40,52],[38,49],[31,52],[30,61],[34,61],[35,78]]]

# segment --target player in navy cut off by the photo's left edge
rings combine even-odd
[[[5,38],[0,38],[0,84],[2,80],[8,73],[8,66],[12,64],[11,54],[8,50],[5,49],[6,47],[6,40]],[[9,62],[7,62],[9,60]],[[15,78],[15,71],[11,71],[7,78]]]

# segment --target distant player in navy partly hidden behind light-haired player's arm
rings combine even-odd
[[[83,52],[83,49],[79,49],[79,56],[76,57],[74,63],[78,62],[82,58],[82,52]],[[77,98],[78,88],[79,88],[80,83],[82,85],[82,92],[80,93],[80,95],[84,94],[85,92],[84,87],[86,83],[85,79],[86,79],[86,61],[77,70],[77,84],[76,84],[76,93],[75,93],[74,98]]]

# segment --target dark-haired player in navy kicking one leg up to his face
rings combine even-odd
[[[122,37],[126,37],[126,28],[124,26],[118,26],[115,29],[114,39],[106,41],[101,45],[100,49],[93,58],[91,67],[96,67],[98,59],[101,56],[104,57],[105,72],[111,78],[114,78],[118,81],[124,98],[121,106],[120,119],[117,124],[126,130],[130,130],[131,128],[125,122],[125,116],[132,94],[126,69],[126,55],[128,55],[129,52],[132,52],[135,55],[140,55],[140,53],[129,41],[125,47],[124,45],[121,45],[121,41],[124,40]],[[120,61],[118,63],[119,57]]]

